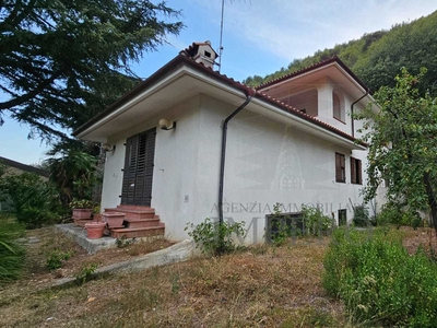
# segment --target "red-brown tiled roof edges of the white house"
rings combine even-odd
[[[338,59],[336,57],[327,59],[324,61],[321,61],[319,63],[314,65],[312,67],[309,67],[309,68],[306,68],[304,70],[300,70],[300,71],[298,71],[298,73],[303,73],[303,71],[310,71],[311,69],[319,68],[319,67],[321,67],[323,65],[327,65],[327,63],[330,63],[330,62],[333,62],[333,61],[339,62],[340,59]],[[196,68],[196,69],[198,69],[200,71],[203,71],[209,75],[209,78],[212,78],[214,80],[218,80],[218,81],[224,82],[224,83],[226,83],[226,84],[228,84],[231,86],[234,86],[234,87],[243,91],[246,95],[253,94],[253,91],[255,91],[255,95],[253,96],[259,98],[259,99],[262,99],[265,103],[269,103],[269,104],[271,104],[273,106],[279,107],[280,109],[282,109],[282,110],[284,110],[286,113],[290,113],[290,114],[292,114],[292,115],[294,115],[296,117],[303,118],[303,119],[305,119],[305,120],[307,120],[307,121],[309,121],[311,124],[315,124],[315,125],[317,125],[319,127],[322,127],[322,128],[324,128],[327,130],[330,130],[330,131],[334,132],[338,136],[346,138],[346,139],[351,140],[351,141],[356,141],[356,139],[353,136],[351,136],[349,133],[345,133],[345,132],[336,129],[335,127],[317,119],[314,116],[310,116],[308,114],[302,113],[300,110],[298,110],[298,109],[296,109],[296,108],[294,108],[294,107],[292,107],[290,105],[286,105],[283,102],[279,101],[279,99],[276,99],[274,97],[271,97],[271,96],[267,95],[265,93],[259,91],[258,89],[253,90],[253,89],[247,86],[246,84],[243,84],[243,83],[240,83],[238,81],[235,81],[232,78],[226,77],[225,74],[221,74],[220,72],[214,71],[212,68],[205,67],[203,63],[196,62],[193,59],[190,58],[190,55],[187,51],[187,49],[180,51],[178,56],[176,56],[173,60],[170,60],[165,66],[163,66],[161,69],[158,69],[150,78],[147,78],[143,82],[139,83],[133,90],[131,90],[130,92],[125,94],[116,103],[114,103],[108,108],[106,108],[104,112],[98,114],[96,117],[94,117],[93,119],[91,119],[90,121],[84,124],[82,127],[76,129],[73,132],[73,136],[78,136],[79,133],[81,133],[85,129],[90,128],[93,124],[97,122],[98,120],[103,119],[104,117],[106,117],[107,115],[109,115],[110,113],[116,110],[119,106],[121,106],[122,104],[128,102],[130,98],[132,98],[133,96],[135,96],[139,93],[141,93],[142,91],[144,91],[146,87],[149,87],[154,82],[156,82],[158,79],[161,79],[165,73],[172,71],[173,69],[175,69],[180,63],[186,63],[186,65],[191,66],[191,67],[193,67],[193,68]],[[342,63],[342,65],[344,66],[344,63]],[[283,81],[283,80],[290,78],[290,75],[292,75],[292,74],[288,74],[288,75],[286,75],[284,78],[276,79],[275,81],[269,82],[269,83],[267,83],[264,85],[271,85],[271,84],[276,83],[279,81]],[[365,147],[367,145],[364,142],[359,142],[359,144],[365,145]]]

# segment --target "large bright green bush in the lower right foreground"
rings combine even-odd
[[[357,321],[383,327],[436,327],[437,265],[410,256],[387,230],[339,229],[324,258],[322,281]]]

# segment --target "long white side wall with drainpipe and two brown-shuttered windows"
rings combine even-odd
[[[200,110],[198,197],[196,220],[217,218],[218,163],[221,125],[234,107],[202,96]],[[250,226],[246,242],[261,242],[265,215],[281,202],[296,212],[304,204],[322,204],[323,212],[338,219],[339,209],[347,209],[352,220],[351,201],[362,203],[362,185],[351,184],[350,156],[363,161],[365,152],[352,151],[327,143],[291,128],[291,121],[274,121],[244,109],[228,125],[224,187],[225,220],[245,221]],[[346,155],[346,183],[335,183],[335,152]],[[296,183],[282,187],[288,176]],[[366,177],[364,177],[366,178]]]

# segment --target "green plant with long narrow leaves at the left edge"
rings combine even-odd
[[[0,283],[15,280],[23,269],[24,248],[15,239],[24,234],[24,227],[0,216]]]

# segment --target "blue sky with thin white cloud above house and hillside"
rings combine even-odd
[[[154,1],[156,2],[156,1]],[[145,52],[133,71],[145,79],[192,42],[217,49],[222,0],[167,0],[186,27],[155,52]],[[225,0],[221,72],[237,81],[264,77],[319,49],[390,30],[437,10],[435,0]],[[4,117],[0,156],[38,164],[48,147],[28,139],[29,128]]]

